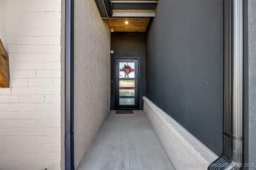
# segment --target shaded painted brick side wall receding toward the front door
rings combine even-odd
[[[76,168],[110,110],[110,30],[94,0],[75,1],[74,13]]]

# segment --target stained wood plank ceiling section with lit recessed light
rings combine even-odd
[[[108,26],[114,32],[145,32],[150,18],[109,18]],[[128,21],[129,23],[124,23]]]

